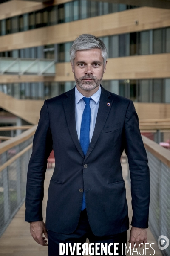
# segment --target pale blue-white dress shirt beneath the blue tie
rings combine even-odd
[[[90,98],[90,108],[91,108],[91,123],[90,123],[90,142],[91,138],[94,133],[94,127],[96,124],[96,117],[97,117],[97,112],[99,108],[99,102],[100,102],[100,94],[101,94],[101,87],[99,86],[99,90],[96,91]],[[78,138],[80,139],[80,129],[81,129],[81,123],[82,123],[82,114],[85,109],[85,102],[82,99],[83,96],[82,93],[80,93],[77,90],[77,85],[75,87],[75,106],[76,106],[76,128],[77,128],[77,135]]]

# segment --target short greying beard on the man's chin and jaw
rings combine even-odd
[[[93,79],[93,81],[84,81],[84,79]],[[101,79],[97,79],[96,76],[92,75],[85,75],[80,78],[77,78],[74,74],[74,79],[76,81],[77,86],[79,86],[81,89],[90,91],[94,90],[96,87],[98,87],[102,81]]]

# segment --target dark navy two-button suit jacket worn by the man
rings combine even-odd
[[[43,183],[52,149],[55,168],[48,189],[48,230],[72,233],[76,229],[83,198],[79,189],[84,189],[88,220],[96,236],[128,230],[120,163],[124,149],[131,176],[131,225],[148,227],[149,168],[131,100],[102,87],[94,134],[85,157],[77,136],[74,89],[45,100],[28,166],[26,221],[42,221]]]

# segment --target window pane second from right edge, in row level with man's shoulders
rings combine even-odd
[[[162,102],[162,79],[153,79],[153,102]]]

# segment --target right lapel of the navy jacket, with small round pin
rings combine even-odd
[[[101,86],[101,88],[102,88],[102,91],[101,91],[101,96],[100,96],[96,124],[95,124],[95,128],[94,128],[93,136],[91,138],[91,143],[88,147],[88,151],[85,156],[85,160],[87,159],[87,157],[93,150],[94,146],[96,145],[96,142],[99,138],[99,135],[102,131],[103,126],[105,125],[106,119],[108,118],[108,114],[111,110],[111,106],[113,103],[113,100],[108,99],[108,97],[111,96],[111,94],[107,90],[105,90],[102,86]],[[107,105],[108,102],[111,103],[110,106]]]

